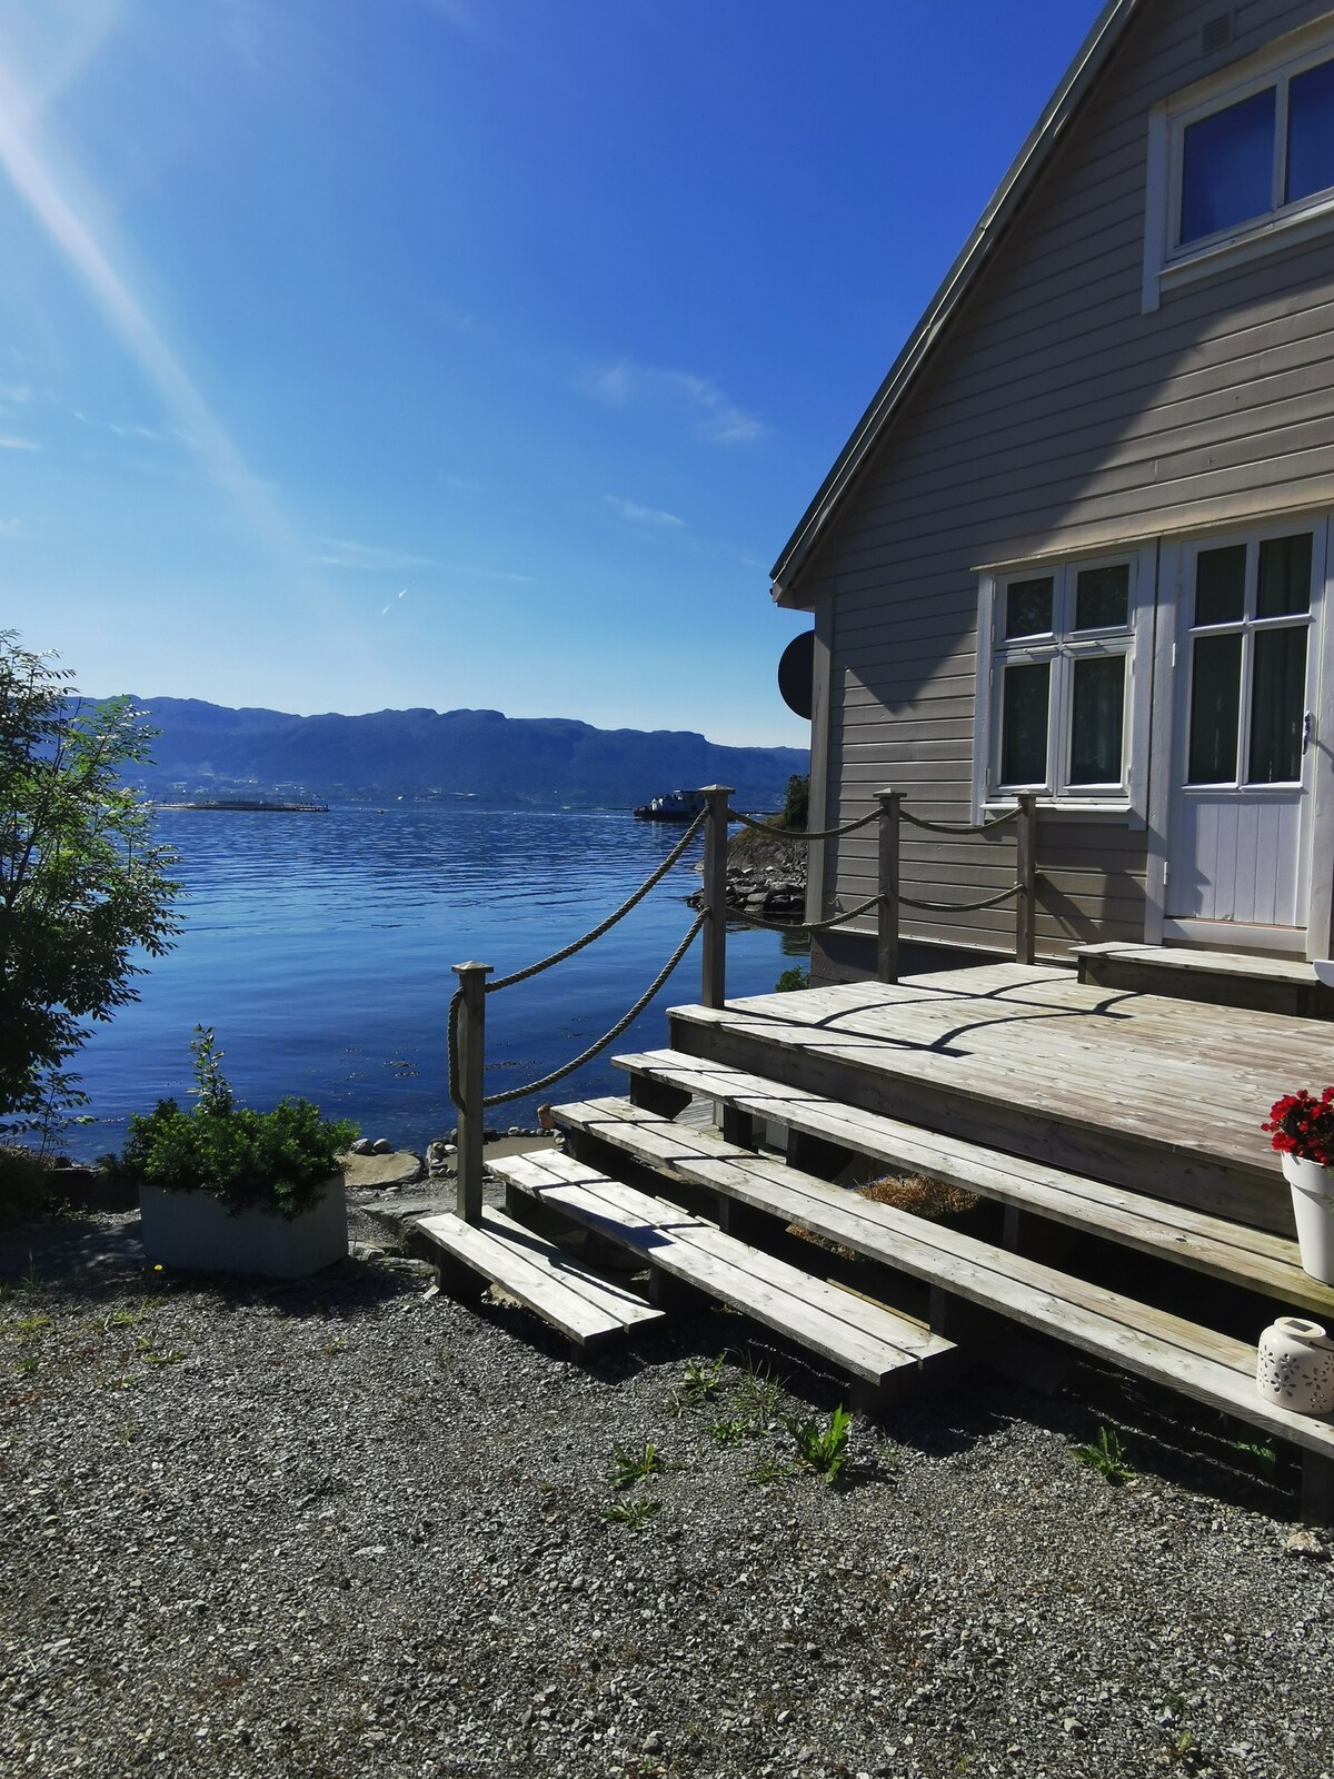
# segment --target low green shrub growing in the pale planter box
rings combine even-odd
[[[356,1124],[325,1123],[309,1099],[283,1099],[272,1112],[237,1107],[212,1030],[196,1026],[190,1050],[199,1103],[183,1112],[174,1099],[158,1099],[157,1110],[130,1119],[125,1149],[105,1155],[101,1165],[135,1187],[206,1192],[233,1215],[260,1210],[290,1220],[308,1211]]]

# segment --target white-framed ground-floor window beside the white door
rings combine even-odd
[[[980,801],[1129,804],[1137,582],[1137,551],[984,582]]]

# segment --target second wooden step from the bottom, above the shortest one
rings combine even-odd
[[[813,1279],[560,1149],[505,1156],[491,1165],[548,1210],[619,1242],[655,1270],[717,1297],[875,1388],[953,1352],[952,1341],[920,1322]]]

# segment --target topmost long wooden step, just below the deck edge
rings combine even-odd
[[[747,1117],[820,1137],[854,1155],[882,1162],[888,1171],[927,1174],[1334,1322],[1334,1288],[1302,1270],[1297,1242],[1290,1236],[1149,1199],[1124,1187],[1003,1155],[962,1137],[863,1112],[745,1069],[703,1062],[672,1050],[614,1060],[631,1076],[701,1094],[735,1107]]]

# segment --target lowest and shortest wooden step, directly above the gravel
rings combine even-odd
[[[489,1204],[482,1208],[480,1226],[441,1211],[418,1217],[416,1228],[470,1272],[518,1297],[576,1347],[598,1347],[630,1329],[663,1320],[662,1311],[642,1297],[589,1272]]]

